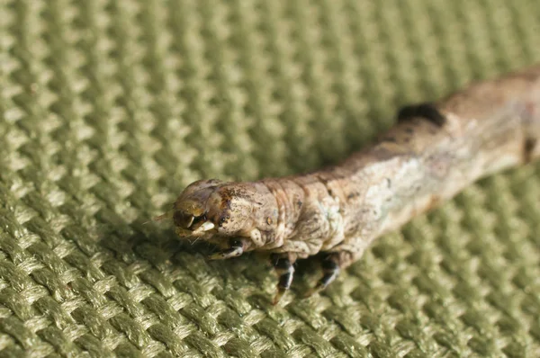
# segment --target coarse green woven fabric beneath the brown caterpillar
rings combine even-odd
[[[403,104],[540,60],[537,0],[1,0],[0,356],[540,356],[540,165],[271,304],[147,223],[187,183],[336,163]]]

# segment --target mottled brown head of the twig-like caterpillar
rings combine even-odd
[[[175,201],[172,218],[180,237],[199,237],[220,246],[230,238],[244,250],[263,246],[266,233],[276,228],[277,205],[263,183],[197,181]]]

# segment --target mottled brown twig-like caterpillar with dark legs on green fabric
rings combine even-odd
[[[401,227],[477,179],[540,157],[540,66],[471,85],[398,113],[373,146],[307,175],[252,183],[190,184],[172,218],[180,237],[222,248],[211,259],[272,253],[275,303],[294,262],[324,253],[320,291],[376,237]]]

